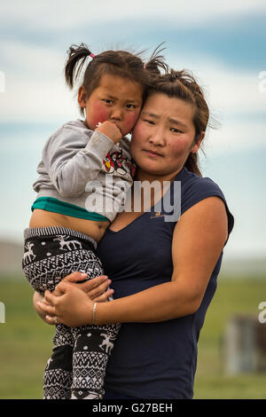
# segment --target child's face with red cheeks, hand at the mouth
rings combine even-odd
[[[83,87],[79,90],[78,102],[85,108],[86,122],[95,130],[98,122],[113,122],[127,135],[135,126],[143,101],[144,87],[119,75],[102,75],[98,87],[85,99]]]

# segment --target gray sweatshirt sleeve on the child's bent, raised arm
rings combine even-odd
[[[112,147],[113,141],[101,132],[89,138],[82,130],[65,127],[44,146],[43,163],[57,191],[63,197],[75,197],[97,177]]]

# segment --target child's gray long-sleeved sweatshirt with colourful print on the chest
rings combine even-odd
[[[76,120],[66,122],[46,142],[33,187],[37,199],[52,197],[112,222],[133,184],[135,169],[128,138],[114,145]]]

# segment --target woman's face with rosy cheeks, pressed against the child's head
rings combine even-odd
[[[133,130],[131,154],[140,172],[171,179],[184,167],[189,153],[196,153],[194,108],[179,98],[153,93]]]

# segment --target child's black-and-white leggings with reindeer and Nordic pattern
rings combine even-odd
[[[22,268],[31,286],[51,291],[73,271],[92,279],[103,275],[96,242],[62,227],[28,228],[24,232]],[[44,370],[43,399],[100,399],[107,360],[120,325],[56,326],[53,353]]]

